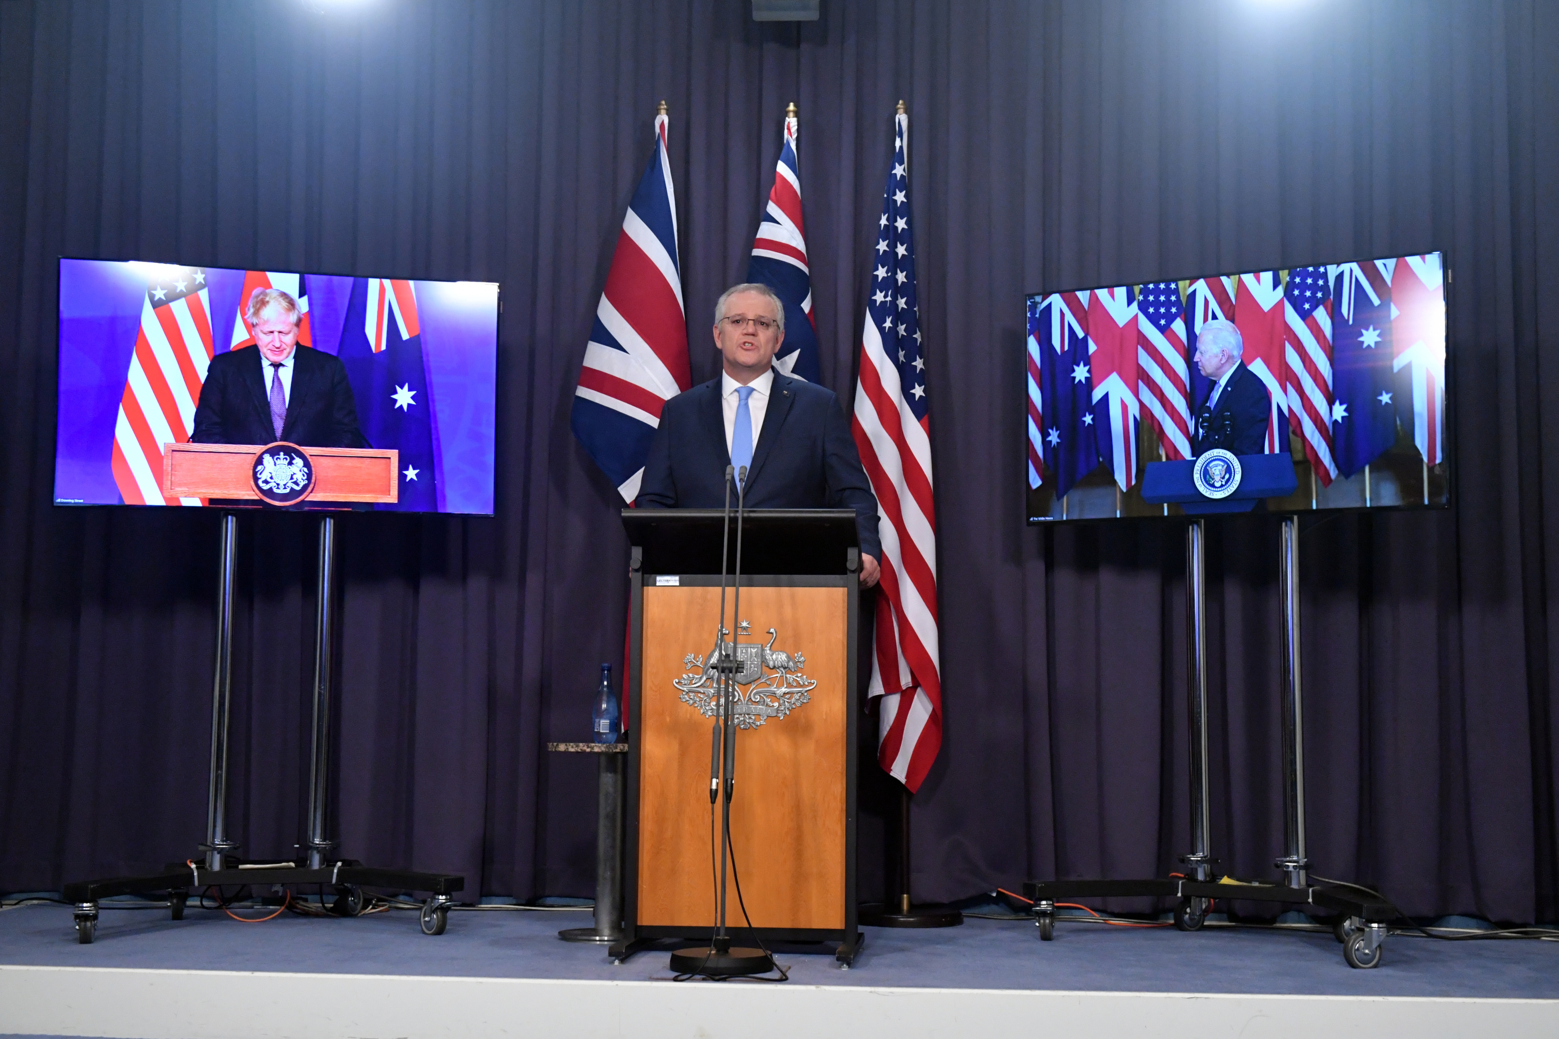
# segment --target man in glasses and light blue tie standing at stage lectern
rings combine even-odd
[[[756,509],[853,508],[861,586],[878,581],[878,503],[833,391],[773,369],[784,305],[767,285],[736,285],[714,305],[720,377],[666,402],[638,505],[722,508],[725,467],[747,466]]]

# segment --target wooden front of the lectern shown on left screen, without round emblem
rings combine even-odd
[[[162,455],[162,492],[170,498],[248,498],[254,491],[254,456],[265,444],[168,444]],[[398,502],[401,452],[394,449],[302,447],[313,464],[320,502]],[[307,500],[306,498],[306,500]]]

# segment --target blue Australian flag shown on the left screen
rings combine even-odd
[[[380,509],[438,511],[433,402],[427,396],[422,326],[412,282],[352,280],[341,329],[341,363],[357,399],[357,424],[371,447],[401,452],[401,498]]]

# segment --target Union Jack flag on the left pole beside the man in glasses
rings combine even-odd
[[[691,385],[666,123],[663,106],[574,389],[574,436],[630,505],[639,497],[661,407]]]

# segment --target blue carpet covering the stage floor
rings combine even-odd
[[[359,919],[284,914],[240,924],[190,905],[165,911],[104,910],[97,941],[80,946],[62,905],[0,913],[0,963],[170,970],[298,970],[318,974],[458,975],[580,980],[666,980],[667,953],[613,966],[605,949],[558,941],[589,913],[455,911],[449,930],[422,935],[416,914]],[[1174,928],[1127,930],[1060,922],[1038,941],[1030,922],[977,921],[946,930],[867,928],[856,969],[831,953],[784,952],[803,984],[1235,992],[1313,995],[1439,995],[1559,998],[1559,942],[1444,942],[1394,936],[1384,963],[1353,970],[1322,933]]]

